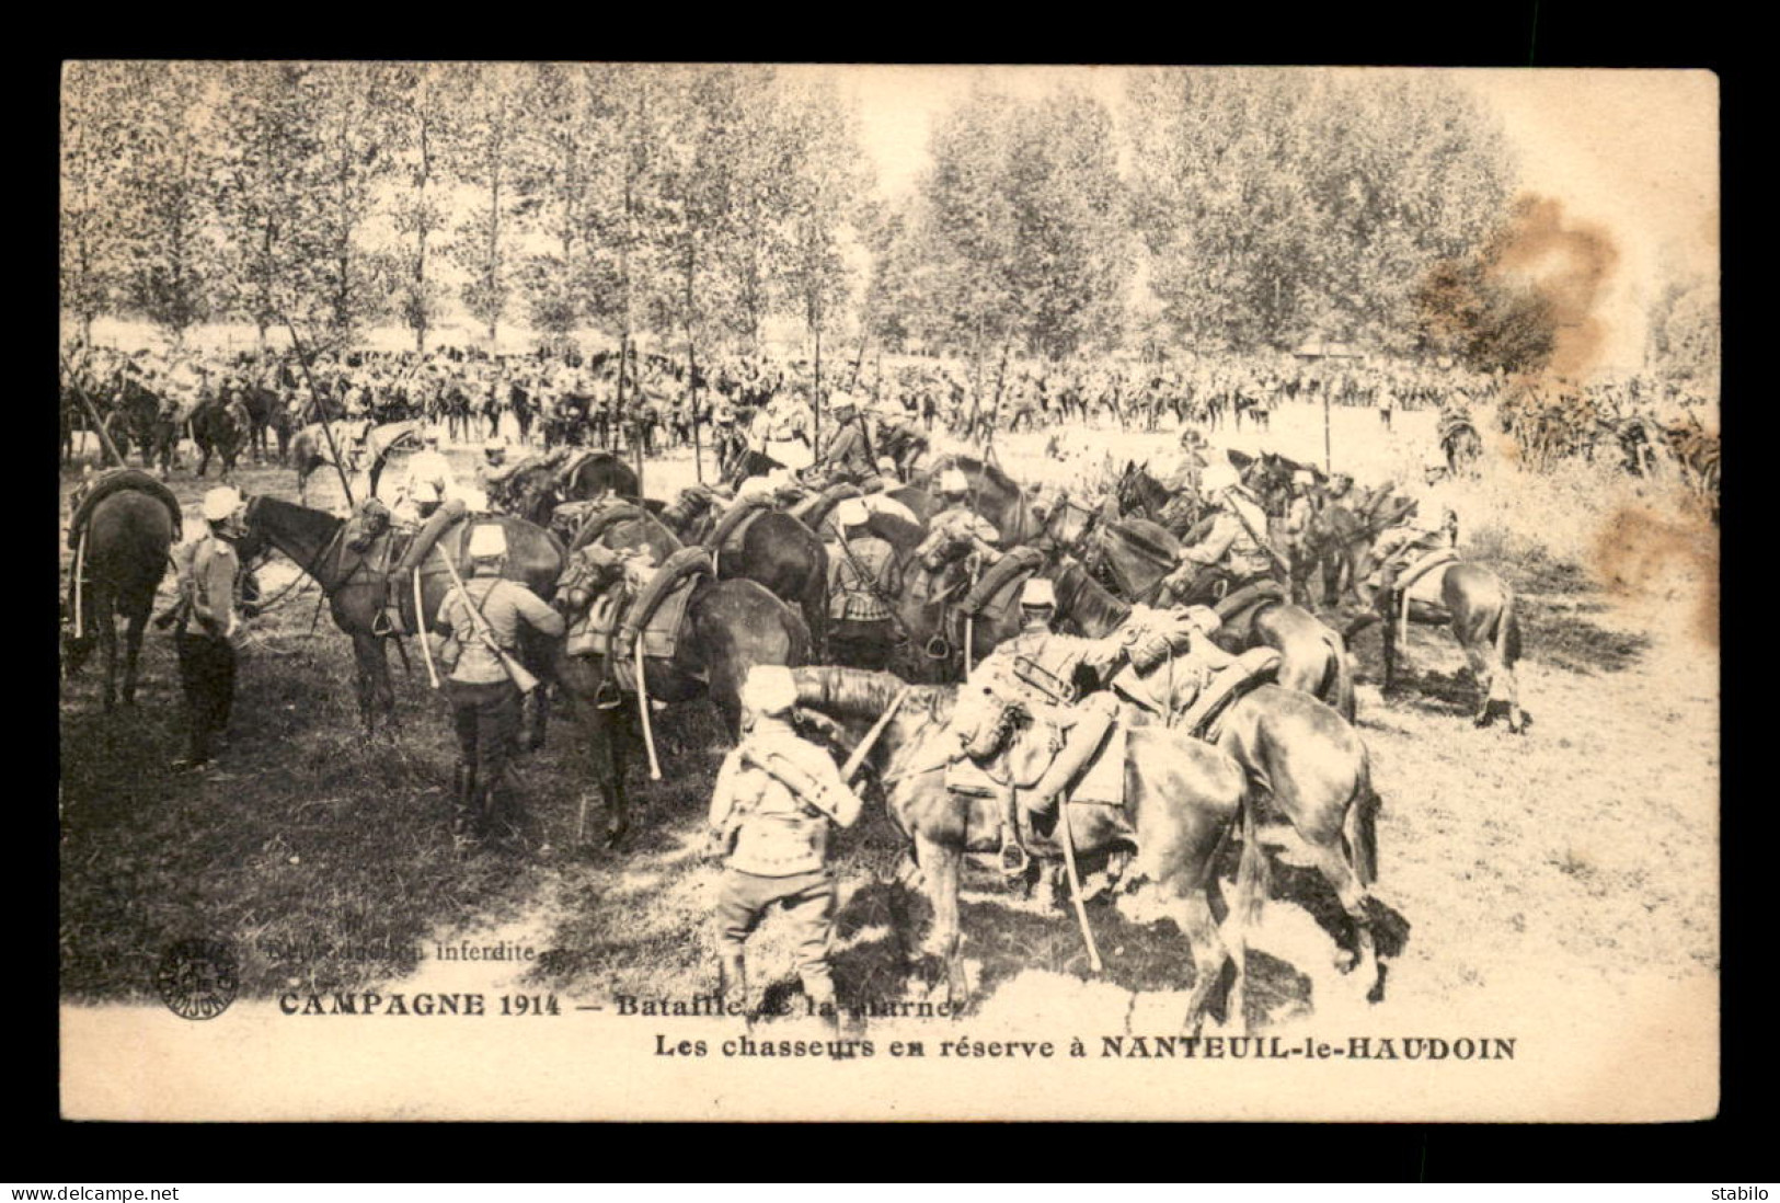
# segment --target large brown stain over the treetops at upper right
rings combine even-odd
[[[1563,203],[1522,192],[1513,215],[1486,253],[1488,279],[1524,283],[1547,306],[1552,352],[1545,372],[1581,379],[1607,340],[1607,324],[1595,315],[1620,249],[1593,222],[1566,221]]]

